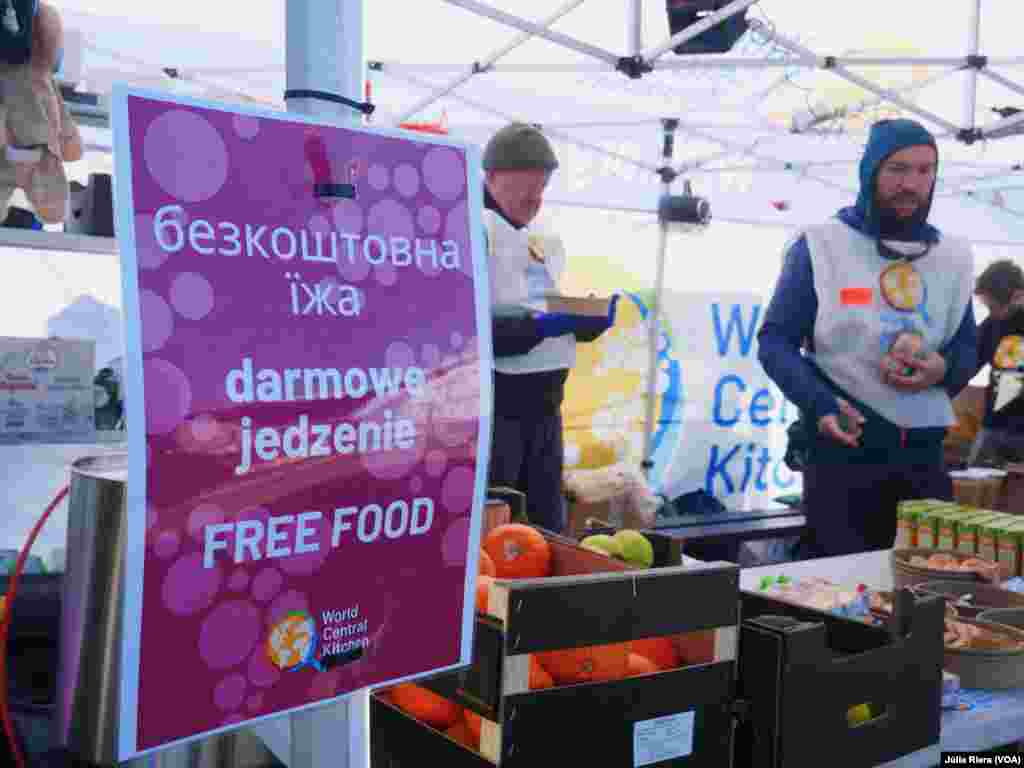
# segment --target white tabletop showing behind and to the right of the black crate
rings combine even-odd
[[[766,577],[791,579],[820,577],[837,584],[864,584],[878,590],[892,589],[889,550],[845,557],[765,565],[739,572],[740,589],[755,591]],[[1006,691],[967,691],[974,709],[943,712],[938,744],[906,755],[884,768],[931,768],[939,764],[941,752],[991,750],[1024,740],[1024,688]]]

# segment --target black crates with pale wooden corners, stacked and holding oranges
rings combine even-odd
[[[683,742],[690,729],[691,754],[649,765],[729,766],[738,568],[715,563],[637,569],[560,537],[548,538],[557,575],[496,581],[492,614],[477,616],[473,665],[421,681],[481,715],[480,754],[375,697],[375,768],[633,765],[638,739],[662,718],[676,719],[670,724],[681,729]],[[692,634],[697,632],[705,634]],[[706,663],[625,680],[529,689],[531,653],[665,636],[690,651],[694,640],[707,643]]]

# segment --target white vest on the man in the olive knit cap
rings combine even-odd
[[[545,297],[558,292],[565,271],[561,240],[531,233],[527,227],[516,229],[495,211],[485,210],[483,220],[492,311],[496,314],[521,313],[524,309],[548,311]],[[495,370],[503,374],[536,374],[571,369],[574,365],[575,337],[571,334],[545,339],[526,354],[495,358]]]

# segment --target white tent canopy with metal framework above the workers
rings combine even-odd
[[[367,3],[373,119],[443,114],[454,133],[480,142],[509,119],[540,123],[561,144],[553,201],[650,211],[660,121],[675,118],[676,167],[717,220],[788,228],[849,204],[866,124],[902,113],[940,136],[935,220],[982,245],[1024,242],[1021,139],[1014,118],[992,113],[1024,105],[1007,4],[736,0],[726,10],[741,6],[752,6],[752,29],[732,51],[678,56],[659,54],[669,39],[662,0]],[[241,31],[219,30],[198,2],[147,18],[62,7],[83,36],[80,87],[102,93],[120,80],[283,104],[280,1],[247,3]],[[975,51],[988,57],[984,68],[967,66]],[[652,72],[616,71],[622,57],[645,53]]]

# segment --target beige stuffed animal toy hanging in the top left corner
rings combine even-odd
[[[2,0],[13,10],[23,3]],[[68,113],[53,73],[63,48],[60,14],[47,3],[28,3],[31,52],[28,60],[0,61],[0,220],[15,188],[51,224],[65,220],[68,177],[63,164],[82,158],[82,137]],[[3,22],[20,16],[5,13]],[[10,27],[5,28],[6,31]]]

